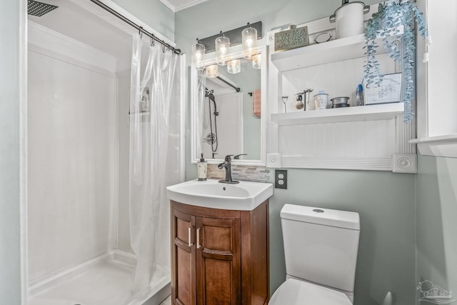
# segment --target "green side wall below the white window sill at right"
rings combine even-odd
[[[418,156],[416,283],[432,281],[453,291],[454,296],[457,292],[456,217],[457,159]],[[417,291],[416,300],[420,297]]]

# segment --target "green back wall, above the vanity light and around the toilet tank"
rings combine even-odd
[[[211,36],[248,21],[262,21],[266,34],[278,26],[329,16],[339,6],[339,0],[211,0],[176,13],[176,45],[189,54],[197,37]],[[186,151],[190,151],[189,114],[187,119]],[[195,179],[196,166],[190,164],[189,156],[186,161],[186,179]],[[273,181],[273,170],[270,176]],[[392,304],[413,304],[416,296],[414,200],[413,174],[289,169],[288,189],[275,189],[270,201],[271,292],[286,276],[279,211],[286,203],[307,204],[357,211],[361,216],[356,305],[382,304],[388,291],[393,295]]]

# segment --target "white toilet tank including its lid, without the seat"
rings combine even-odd
[[[353,292],[358,213],[285,204],[281,226],[289,277]]]

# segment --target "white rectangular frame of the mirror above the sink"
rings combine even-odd
[[[231,47],[231,49],[236,49],[236,47]],[[241,50],[241,48],[240,48]],[[266,124],[268,121],[268,74],[267,74],[267,48],[266,46],[258,46],[256,51],[262,54],[262,63],[261,63],[261,131],[260,131],[260,159],[243,159],[243,160],[233,160],[232,164],[235,165],[253,165],[253,166],[266,166]],[[214,56],[215,52],[211,52],[210,54],[206,54],[206,56],[213,55],[212,59],[205,60],[202,64],[204,66],[208,66],[210,64],[216,64],[216,58]],[[236,51],[230,54],[229,60],[231,59],[238,59],[243,57],[242,51]],[[197,150],[197,141],[199,141],[199,136],[197,135],[197,124],[198,124],[198,109],[197,105],[198,102],[196,99],[198,98],[198,71],[194,65],[191,65],[191,163],[196,164],[200,160],[200,153]],[[241,71],[242,73],[242,71]],[[242,151],[237,152],[233,151],[233,154],[243,154]],[[249,157],[249,156],[247,156]],[[219,159],[205,159],[208,161],[208,164],[220,164],[224,161],[224,156],[221,156]]]

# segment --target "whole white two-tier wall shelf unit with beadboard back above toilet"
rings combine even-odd
[[[371,6],[371,10],[377,11],[377,5]],[[328,17],[297,26],[308,26],[311,34],[331,32],[333,36],[335,31]],[[268,96],[271,96],[267,113],[273,123],[268,124],[267,166],[415,173],[416,146],[408,141],[416,137],[416,125],[403,122],[403,103],[314,111],[291,109],[289,103],[291,111],[283,113],[280,96],[293,96],[302,84],[312,83],[328,92],[351,96],[353,84],[362,76],[366,57],[364,35],[275,53],[274,34],[278,31],[281,29],[267,34]],[[396,31],[398,35],[402,33],[403,29]],[[378,46],[383,71],[397,71],[398,66],[387,54],[382,54],[385,53],[382,39]],[[338,84],[341,75],[350,78],[345,79],[348,84]]]

